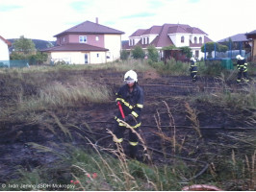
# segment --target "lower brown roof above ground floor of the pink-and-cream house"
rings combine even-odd
[[[48,49],[41,50],[42,52],[62,52],[62,51],[98,51],[105,52],[108,49],[92,46],[86,43],[68,43],[60,46],[50,47]]]

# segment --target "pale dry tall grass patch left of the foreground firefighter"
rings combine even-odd
[[[36,83],[35,83],[36,84]],[[104,84],[93,84],[87,80],[80,80],[74,84],[55,82],[40,87],[37,95],[27,95],[23,89],[17,89],[13,103],[8,108],[1,108],[0,121],[21,121],[29,113],[31,121],[38,121],[41,111],[87,105],[89,103],[109,103],[112,90]],[[34,117],[33,117],[34,116]]]

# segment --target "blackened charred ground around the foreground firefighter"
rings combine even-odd
[[[44,74],[45,75],[45,74]],[[0,182],[17,179],[17,169],[28,171],[49,165],[52,166],[59,156],[51,153],[38,153],[35,146],[41,145],[64,153],[64,143],[71,142],[75,147],[90,148],[92,143],[108,148],[112,145],[112,138],[99,140],[113,130],[113,123],[117,108],[114,93],[122,84],[123,72],[112,70],[80,70],[48,72],[47,78],[40,84],[34,84],[35,78],[42,74],[27,74],[27,80],[19,81],[18,77],[10,78],[0,75],[1,106],[12,108],[12,100],[18,99],[16,91],[22,89],[24,95],[37,95],[39,87],[44,84],[69,84],[75,79],[88,79],[93,84],[106,84],[112,90],[113,97],[107,103],[84,103],[83,105],[67,108],[54,108],[38,112],[41,119],[33,120],[33,114],[26,118],[1,119],[0,129]],[[221,161],[220,156],[229,156],[232,150],[239,154],[250,154],[244,142],[233,140],[234,135],[253,135],[256,127],[255,110],[241,109],[232,106],[218,105],[218,92],[243,91],[241,86],[226,84],[207,77],[200,77],[192,84],[187,76],[174,77],[160,75],[154,71],[139,73],[139,84],[144,90],[144,108],[142,111],[141,136],[149,148],[165,151],[167,154],[203,160],[211,163]],[[209,94],[216,97],[214,103],[199,99],[201,95]],[[216,104],[215,104],[216,103]],[[191,113],[190,113],[191,111]],[[192,114],[197,117],[200,131],[194,127]],[[26,114],[20,114],[26,116]],[[71,135],[62,130],[67,128]],[[91,133],[93,132],[93,133]],[[201,135],[200,135],[201,134]],[[72,138],[72,139],[70,139]],[[175,139],[175,142],[171,139]],[[98,141],[99,140],[99,141]],[[33,143],[33,144],[32,144]],[[57,145],[56,145],[57,144]],[[173,145],[176,144],[176,149]],[[241,144],[241,145],[240,145]],[[61,146],[61,147],[60,147]],[[244,151],[245,149],[245,151]],[[142,153],[142,148],[141,148]],[[159,153],[153,153],[156,164],[167,163]],[[68,166],[64,166],[63,173],[68,173]],[[221,170],[221,165],[217,168]],[[63,173],[52,175],[63,179]],[[227,186],[227,189],[234,189]],[[238,189],[238,188],[236,188]]]

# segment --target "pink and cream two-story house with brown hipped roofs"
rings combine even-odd
[[[56,35],[57,46],[41,50],[53,61],[105,63],[120,58],[121,31],[85,21]]]

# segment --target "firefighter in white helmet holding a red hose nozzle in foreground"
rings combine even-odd
[[[124,132],[128,129],[120,120],[129,124],[136,132],[141,127],[141,110],[143,108],[143,90],[138,84],[137,73],[133,70],[127,71],[124,75],[124,85],[115,93],[115,102],[120,102],[125,118],[123,119],[120,111],[115,116],[114,142],[123,141]],[[135,132],[129,129],[129,156],[136,158],[138,152],[139,138]]]

